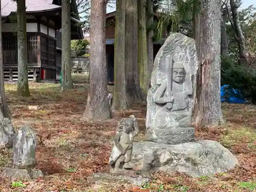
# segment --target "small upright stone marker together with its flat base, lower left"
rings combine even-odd
[[[13,140],[13,168],[6,168],[2,177],[16,179],[35,179],[42,177],[41,170],[33,169],[36,165],[36,135],[30,126],[18,130]]]

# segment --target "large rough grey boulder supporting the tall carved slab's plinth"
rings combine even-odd
[[[211,140],[178,145],[134,142],[130,162],[137,170],[177,171],[193,177],[227,172],[238,164],[227,148]]]

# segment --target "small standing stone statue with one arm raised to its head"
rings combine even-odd
[[[112,175],[121,175],[120,164],[124,163],[123,168],[133,168],[129,164],[133,152],[133,139],[139,133],[139,126],[134,115],[129,118],[122,118],[118,123],[118,131],[114,137],[112,154],[110,156],[110,165],[115,164]]]

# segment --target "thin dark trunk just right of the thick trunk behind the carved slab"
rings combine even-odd
[[[228,41],[226,32],[226,19],[227,10],[222,9],[222,19],[221,19],[221,56],[225,57],[228,55]]]

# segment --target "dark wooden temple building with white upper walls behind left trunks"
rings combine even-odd
[[[61,70],[61,0],[26,0],[29,80],[56,80]],[[17,80],[16,2],[1,1],[5,80]],[[75,14],[74,14],[75,13]],[[77,13],[77,14],[76,14]],[[71,39],[83,39],[76,1],[71,1]]]

